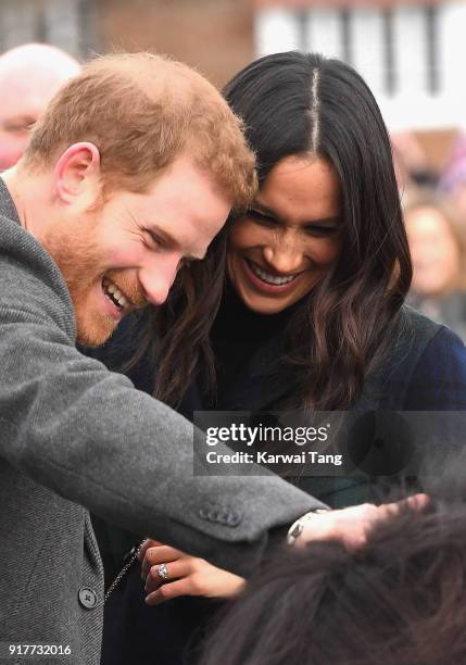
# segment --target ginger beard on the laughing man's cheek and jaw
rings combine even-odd
[[[125,314],[143,308],[147,300],[137,283],[136,271],[111,268],[96,239],[98,221],[84,222],[58,234],[49,233],[42,244],[56,263],[68,287],[76,319],[76,340],[99,347],[113,334]],[[130,304],[113,315],[108,312],[103,281],[110,280],[128,297]]]

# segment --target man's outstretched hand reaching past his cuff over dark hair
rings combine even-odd
[[[339,511],[318,513],[304,524],[295,547],[302,547],[313,540],[341,540],[350,551],[357,550],[366,542],[366,537],[374,524],[395,515],[401,510],[421,510],[429,501],[427,494],[414,494],[399,503],[374,505],[362,503]]]

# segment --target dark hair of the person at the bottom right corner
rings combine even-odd
[[[314,542],[250,580],[199,665],[466,663],[466,514],[432,500],[376,525],[356,553]]]

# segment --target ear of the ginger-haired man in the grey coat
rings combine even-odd
[[[93,208],[101,196],[100,153],[93,143],[70,146],[53,170],[56,198],[65,205]]]

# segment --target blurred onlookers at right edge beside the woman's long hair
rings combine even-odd
[[[466,340],[466,135],[440,172],[414,133],[392,135],[392,143],[413,261],[408,303]]]

